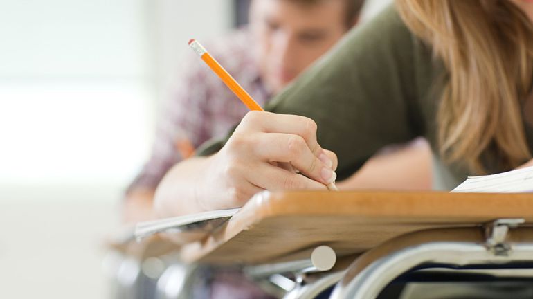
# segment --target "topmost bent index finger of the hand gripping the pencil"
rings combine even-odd
[[[265,111],[250,111],[241,122],[245,128],[264,133],[284,133],[301,136],[315,156],[321,154],[316,141],[316,123],[305,116],[273,114]]]

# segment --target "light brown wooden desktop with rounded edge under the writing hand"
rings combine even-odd
[[[318,245],[348,255],[404,233],[496,218],[532,223],[533,194],[263,192],[208,238],[184,246],[181,256],[188,262],[257,264]]]

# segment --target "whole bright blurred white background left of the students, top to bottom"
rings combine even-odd
[[[0,0],[0,298],[109,298],[105,239],[188,39],[242,24],[245,7]]]

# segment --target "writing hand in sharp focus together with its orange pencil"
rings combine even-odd
[[[189,45],[244,105],[251,111],[264,111],[199,42],[191,39]],[[229,167],[237,176],[246,176],[248,190],[320,188],[317,182],[337,190],[336,155],[318,145],[316,124],[309,118],[250,112],[226,147],[231,156],[227,163],[233,164]],[[293,169],[307,177],[288,171]]]

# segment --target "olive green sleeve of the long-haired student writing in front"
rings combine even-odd
[[[315,120],[318,142],[338,155],[338,176],[347,177],[381,147],[419,134],[410,105],[413,42],[390,7],[351,30],[265,110]],[[199,154],[213,154],[224,142],[212,142]]]

